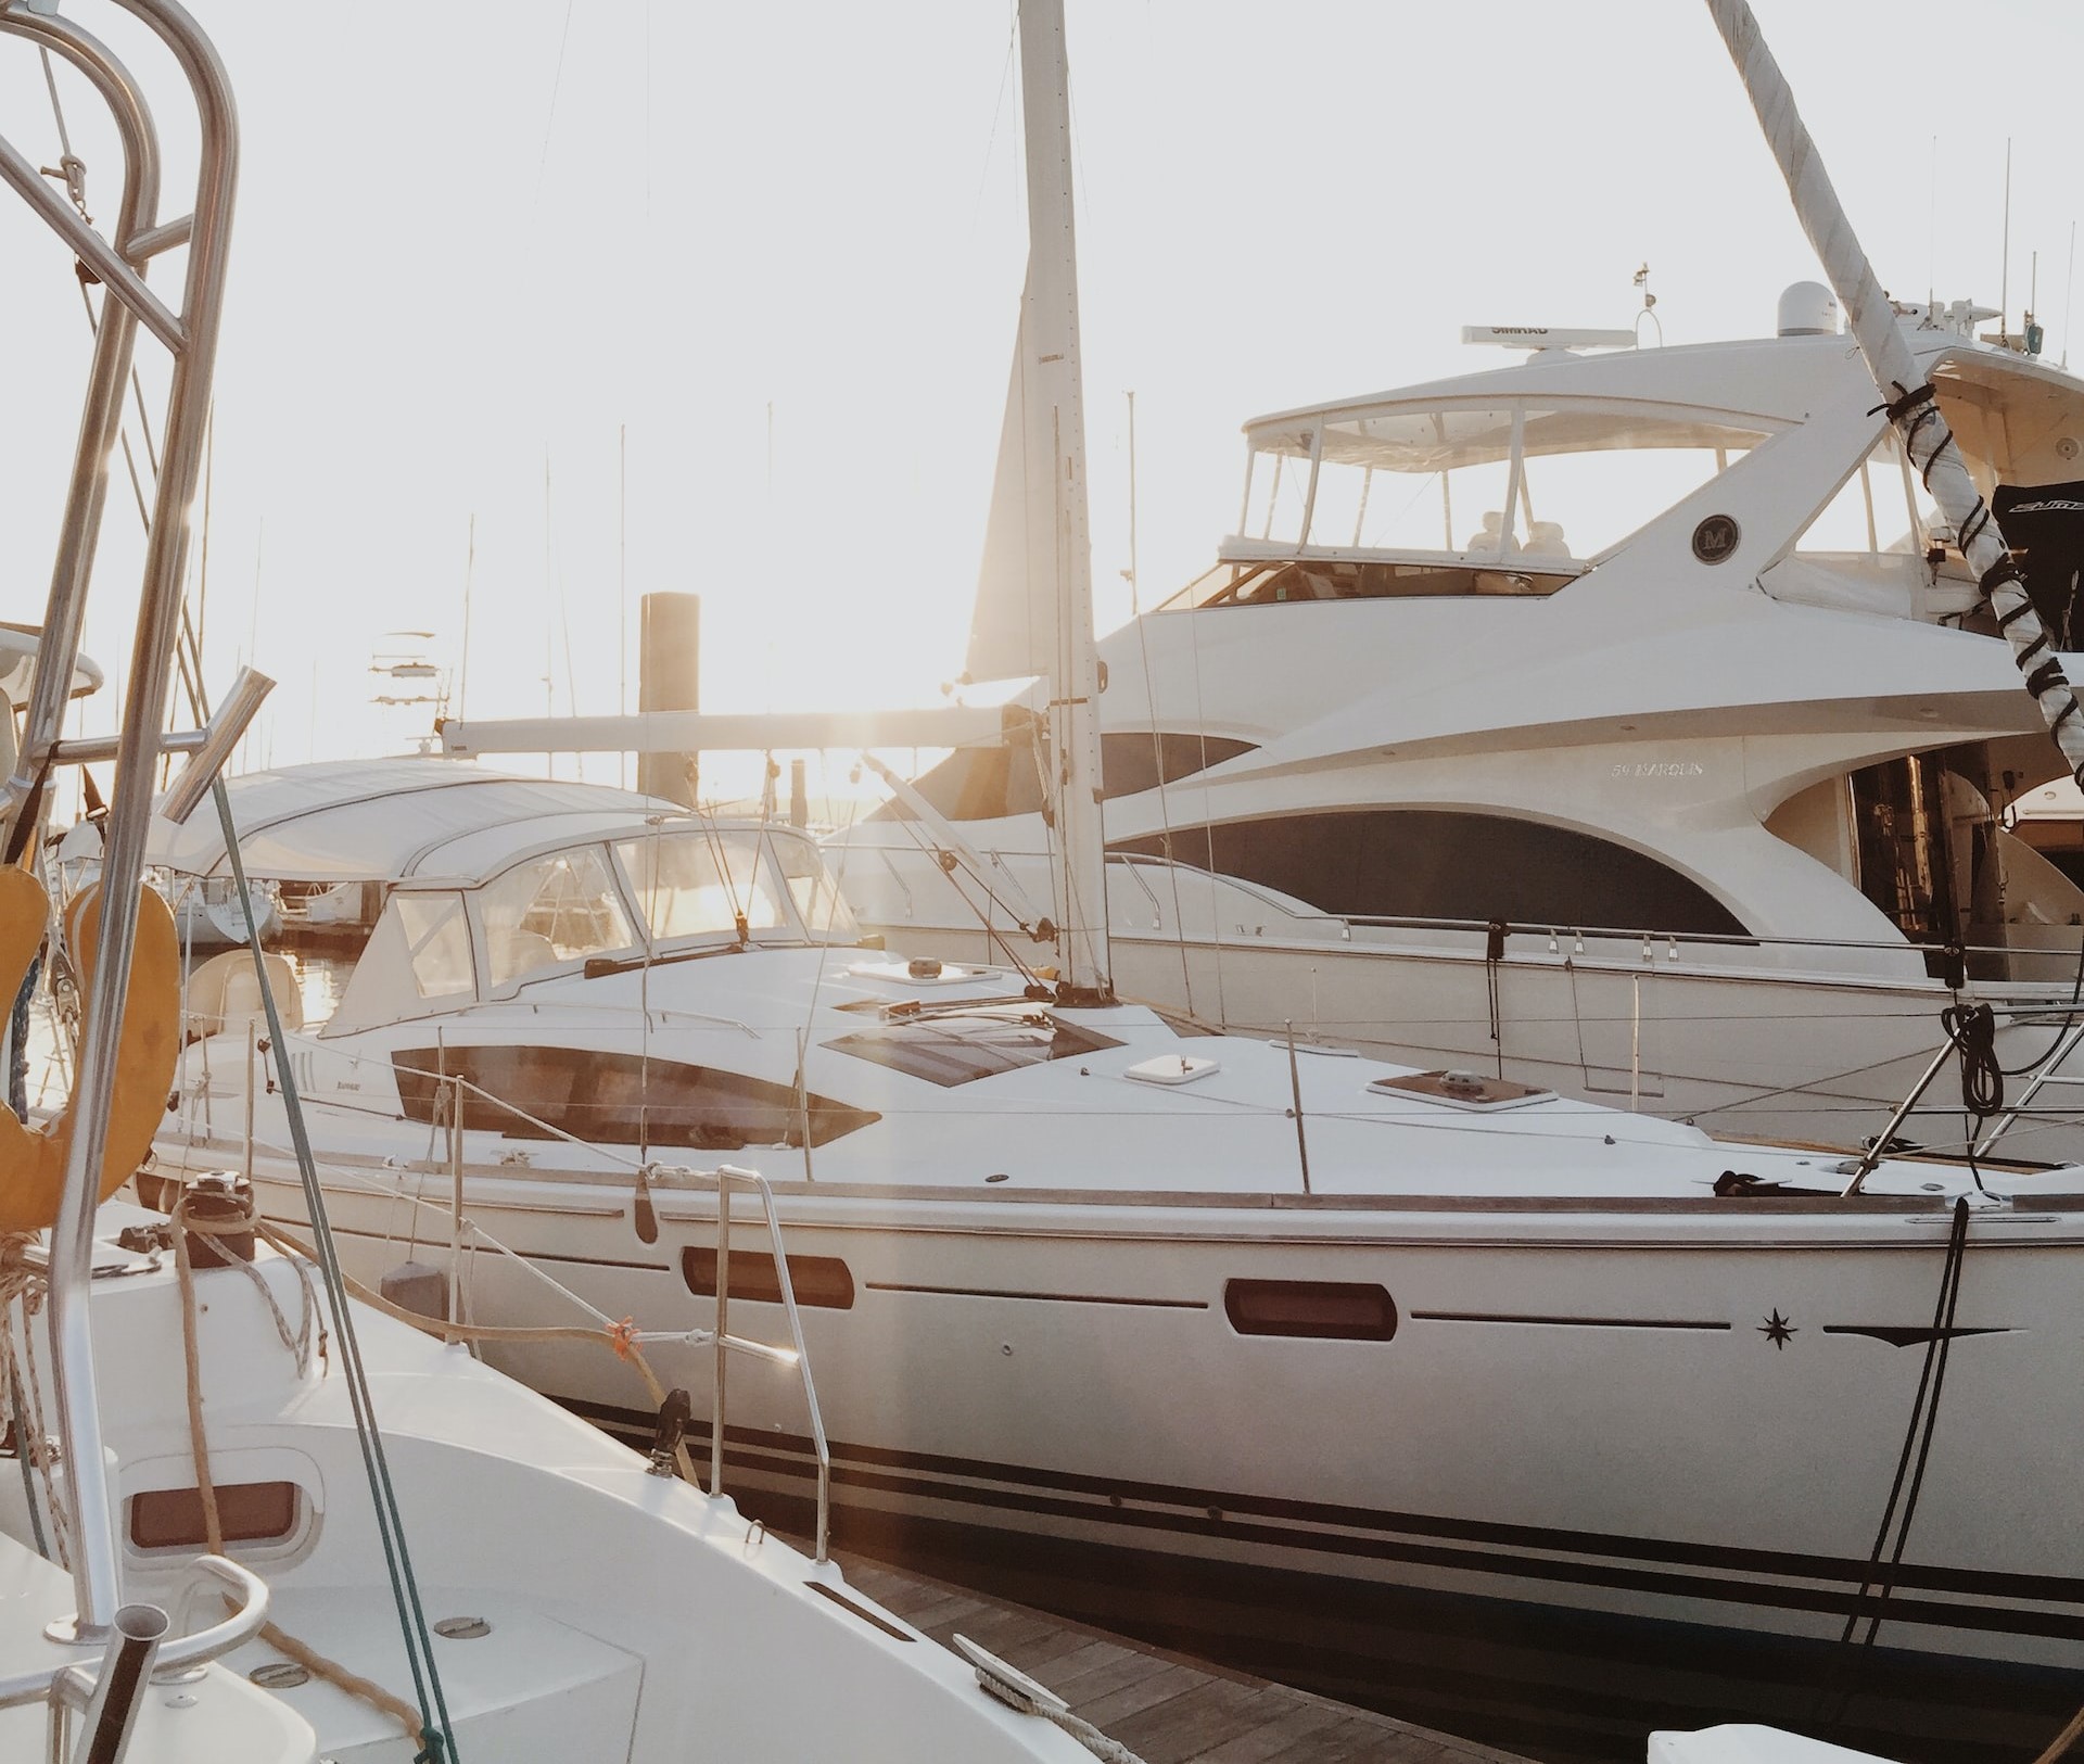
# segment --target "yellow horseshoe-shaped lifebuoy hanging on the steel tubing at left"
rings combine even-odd
[[[65,909],[65,942],[77,951],[81,995],[94,997],[94,955],[100,936],[100,884]],[[29,961],[50,922],[50,897],[27,869],[0,869],[0,999],[21,990]],[[90,1024],[92,1028],[92,1024]],[[102,1153],[100,1199],[129,1180],[152,1149],[167,1113],[167,1086],[181,1053],[181,945],[173,911],[152,888],[138,892],[138,947],[131,953],[129,1003],[117,1040],[117,1076],[108,1099],[108,1143]],[[73,1105],[42,1126],[23,1126],[0,1107],[0,1232],[44,1230],[58,1218],[65,1155],[73,1141]]]

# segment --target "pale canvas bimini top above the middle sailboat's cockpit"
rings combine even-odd
[[[554,817],[686,813],[636,790],[517,778],[467,759],[319,761],[250,771],[225,788],[246,874],[271,882],[402,882],[471,834],[529,824],[540,838]],[[185,876],[231,874],[208,803],[185,826],[154,817],[146,861]]]

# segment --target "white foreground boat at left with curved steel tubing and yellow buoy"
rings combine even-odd
[[[854,1595],[823,1547],[790,1549],[684,1480],[671,1399],[640,1457],[465,1349],[350,1305],[323,1232],[315,1257],[271,1243],[225,1184],[183,1195],[171,1220],[102,1205],[150,1145],[179,1045],[175,924],[142,888],[154,771],[188,755],[163,799],[185,819],[267,686],[246,676],[202,730],[163,734],[238,125],[194,21],[171,0],[123,6],[198,111],[185,217],[158,213],[158,136],[125,65],[56,6],[0,4],[0,38],[77,69],[125,148],[104,240],[0,140],[0,179],[106,290],[48,615],[38,642],[8,646],[33,661],[4,686],[10,730],[17,709],[25,726],[0,815],[0,982],[19,986],[46,932],[21,859],[52,767],[115,759],[98,899],[138,903],[98,917],[90,903],[54,928],[83,976],[73,1093],[50,1122],[0,1116],[0,1751],[1088,1756],[1061,1712],[1021,1712],[1036,1704],[1017,1674],[927,1643]],[[188,250],[175,304],[146,281],[171,248]],[[140,325],[175,369],[129,692],[113,742],[67,740]]]

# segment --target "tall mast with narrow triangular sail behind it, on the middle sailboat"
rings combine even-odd
[[[1113,997],[1100,830],[1098,655],[1077,354],[1063,0],[1021,4],[1027,286],[969,634],[971,680],[1048,680],[1059,955],[1067,999]]]

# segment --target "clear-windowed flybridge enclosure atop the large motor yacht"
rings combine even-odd
[[[1250,430],[1242,546],[1382,559],[1240,588],[1219,569],[1169,605],[1384,594],[1553,594],[1782,423],[1626,398],[1428,398]],[[1413,557],[1415,555],[1415,557]],[[1388,567],[1411,557],[1423,569]]]

